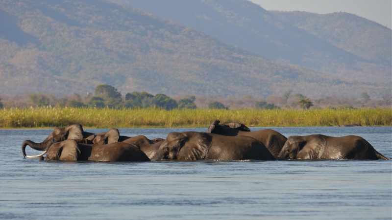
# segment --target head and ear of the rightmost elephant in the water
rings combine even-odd
[[[309,136],[290,136],[277,157],[280,159],[296,159],[306,154],[307,157],[317,159],[323,154],[325,146],[326,140],[321,135],[312,135],[311,138]],[[302,155],[299,155],[301,151]]]

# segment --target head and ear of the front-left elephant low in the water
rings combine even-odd
[[[47,160],[72,160],[79,158],[80,149],[75,140],[65,140],[53,143],[47,153]]]

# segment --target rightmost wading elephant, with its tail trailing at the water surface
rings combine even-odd
[[[378,153],[367,140],[360,136],[348,135],[331,137],[322,134],[290,136],[282,151],[280,159],[388,159]]]

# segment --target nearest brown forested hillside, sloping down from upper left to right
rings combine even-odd
[[[388,83],[282,65],[196,29],[105,0],[0,0],[0,94],[381,97]],[[271,53],[276,51],[270,51]]]

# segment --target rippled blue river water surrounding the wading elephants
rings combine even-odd
[[[251,128],[258,131],[264,128]],[[289,137],[364,137],[392,157],[392,127],[271,128]],[[107,129],[85,129],[106,132]],[[119,129],[165,138],[200,129]],[[392,160],[45,162],[0,130],[0,219],[392,219]],[[27,146],[28,155],[40,153]]]

